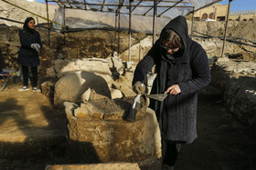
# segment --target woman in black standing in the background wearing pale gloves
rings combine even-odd
[[[32,73],[32,90],[34,92],[41,92],[37,88],[37,66],[40,65],[38,56],[39,49],[42,47],[39,33],[35,30],[35,19],[27,17],[23,29],[19,30],[20,51],[17,62],[22,65],[23,87],[18,91],[23,92],[29,90],[28,87],[28,68],[31,68]]]

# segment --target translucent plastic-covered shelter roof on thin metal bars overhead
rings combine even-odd
[[[174,18],[176,15],[187,15],[202,7],[220,0],[46,0],[57,3],[60,7],[80,9],[101,13],[131,14],[154,16],[154,6],[157,7],[156,17]]]

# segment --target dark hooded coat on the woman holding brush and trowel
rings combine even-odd
[[[169,86],[179,85],[180,94],[167,95],[163,102],[151,99],[149,107],[155,110],[165,140],[188,144],[197,138],[197,91],[210,82],[208,56],[201,45],[188,37],[184,16],[177,16],[164,29],[174,30],[184,47],[169,55],[158,39],[136,66],[133,85],[144,82],[154,65],[157,75],[151,94],[163,94]]]

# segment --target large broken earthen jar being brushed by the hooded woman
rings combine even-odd
[[[142,107],[133,123],[123,120],[133,98],[108,99],[93,93],[90,102],[65,102],[67,155],[75,163],[141,163],[159,165],[161,137],[155,113]],[[158,167],[159,168],[159,167]]]

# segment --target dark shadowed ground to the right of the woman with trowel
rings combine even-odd
[[[256,135],[225,108],[221,95],[198,95],[197,139],[182,145],[176,170],[254,170]]]

